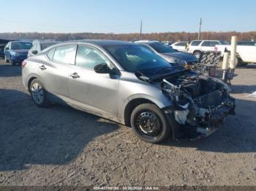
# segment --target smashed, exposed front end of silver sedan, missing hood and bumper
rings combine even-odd
[[[173,105],[164,109],[174,139],[197,139],[214,133],[228,114],[235,114],[235,99],[219,79],[193,72],[162,79],[163,93]]]

